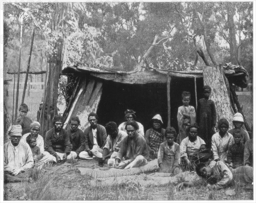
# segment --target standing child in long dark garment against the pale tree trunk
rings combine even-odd
[[[212,88],[208,85],[204,85],[203,91],[204,98],[198,100],[196,111],[196,120],[199,125],[198,135],[206,142],[207,148],[211,148],[212,135],[215,133],[214,127],[216,125],[217,114],[214,101],[209,99]]]

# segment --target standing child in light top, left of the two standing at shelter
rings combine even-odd
[[[177,143],[187,137],[187,130],[189,125],[195,124],[195,108],[189,106],[191,96],[189,92],[182,93],[183,106],[178,108],[177,120],[179,126],[179,134],[177,136]]]

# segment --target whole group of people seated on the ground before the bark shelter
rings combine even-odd
[[[27,112],[25,105],[20,109]],[[119,169],[144,166],[157,158],[160,172],[176,175],[181,170],[195,170],[199,176],[207,178],[211,184],[209,189],[221,189],[236,176],[239,180],[242,177],[246,184],[253,181],[253,140],[241,128],[243,117],[240,113],[233,117],[234,129],[229,131],[233,135],[227,132],[229,123],[225,118],[218,121],[219,132],[212,135],[209,149],[198,135],[196,124],[188,125],[187,136],[177,144],[175,128],[163,129],[159,114],[151,119],[151,128],[145,135],[143,125],[135,121],[134,110],[125,111],[126,121],[119,126],[110,121],[105,127],[98,124],[96,113],[90,113],[90,126],[84,132],[79,129],[77,116],[70,119],[68,130],[63,128],[63,117],[55,116],[53,128],[43,138],[39,135],[41,126],[37,121],[31,122],[30,132],[27,133],[26,125],[22,122],[26,112],[22,112],[17,119],[20,123],[8,130],[10,141],[4,144],[5,180],[24,177],[24,172],[41,169],[49,162],[96,157],[99,166],[105,163]],[[23,134],[24,129],[26,134]],[[215,180],[209,178],[216,174],[218,178]],[[197,184],[201,183],[182,183],[178,189]]]

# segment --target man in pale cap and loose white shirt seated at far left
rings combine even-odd
[[[22,127],[13,125],[8,129],[10,141],[3,146],[4,181],[21,181],[32,175],[34,164],[31,149],[27,143],[20,144]]]

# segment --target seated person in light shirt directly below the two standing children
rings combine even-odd
[[[180,158],[182,165],[185,165],[185,169],[193,169],[193,163],[191,157],[194,158],[194,152],[199,152],[202,144],[205,144],[204,140],[198,136],[198,126],[189,126],[189,136],[184,138],[180,144]]]

